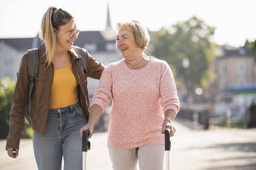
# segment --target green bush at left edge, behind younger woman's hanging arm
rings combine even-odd
[[[8,77],[3,77],[0,80],[0,138],[6,138],[8,135],[14,86],[15,83],[11,82]],[[28,121],[25,121],[21,138],[32,138],[32,128]]]

